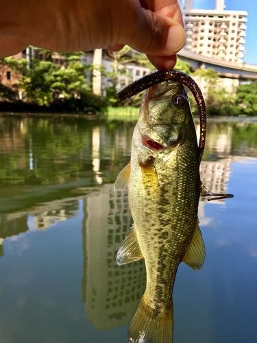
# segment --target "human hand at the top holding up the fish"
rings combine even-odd
[[[9,0],[1,4],[0,56],[35,45],[54,51],[130,45],[171,69],[185,33],[177,0]]]

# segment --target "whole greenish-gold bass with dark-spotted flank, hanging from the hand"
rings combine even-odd
[[[128,187],[134,221],[117,252],[117,263],[145,259],[147,272],[145,293],[130,322],[130,343],[173,342],[175,276],[182,262],[194,270],[204,265],[197,211],[199,196],[213,194],[199,175],[205,121],[198,145],[184,85],[178,78],[158,83],[161,72],[157,73],[151,86],[143,82],[149,88],[134,128],[130,163],[114,184],[115,191]]]

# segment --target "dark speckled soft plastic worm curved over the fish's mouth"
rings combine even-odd
[[[192,92],[193,96],[195,97],[195,101],[197,103],[197,107],[199,110],[199,119],[200,119],[200,138],[199,138],[199,161],[201,161],[201,156],[204,154],[204,147],[206,141],[206,106],[204,102],[204,97],[201,93],[201,90],[197,83],[185,73],[179,70],[171,70],[171,71],[154,71],[149,75],[143,76],[129,86],[123,88],[117,96],[119,99],[124,100],[127,97],[132,97],[132,95],[136,95],[145,89],[154,86],[155,84],[159,84],[164,81],[179,81]]]

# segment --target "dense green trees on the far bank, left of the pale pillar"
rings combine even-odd
[[[48,107],[53,111],[102,113],[107,106],[106,99],[90,92],[86,72],[92,67],[82,64],[82,54],[61,54],[64,61],[61,67],[53,62],[51,52],[43,49],[34,51],[29,67],[26,60],[14,58],[5,58],[2,63],[22,75],[16,88],[23,91],[23,101],[42,110]],[[1,86],[0,97],[2,94],[14,100],[15,92],[10,88]]]

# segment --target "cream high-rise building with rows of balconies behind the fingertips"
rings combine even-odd
[[[215,10],[195,10],[193,0],[184,3],[185,49],[241,63],[245,56],[247,12],[227,11],[225,0],[216,0]]]

